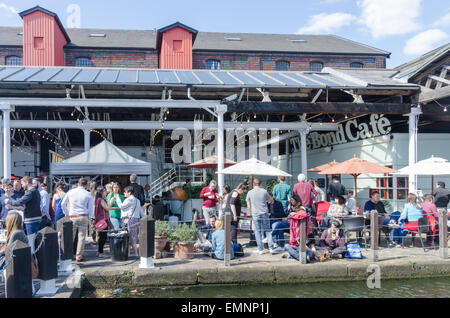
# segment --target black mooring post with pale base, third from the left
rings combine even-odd
[[[72,252],[73,252],[73,222],[68,217],[58,220],[56,228],[60,237],[60,255],[58,271],[62,275],[72,273]]]

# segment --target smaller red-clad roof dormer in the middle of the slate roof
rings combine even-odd
[[[197,33],[180,22],[159,29],[159,68],[192,69],[192,45]]]

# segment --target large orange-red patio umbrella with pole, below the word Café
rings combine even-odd
[[[319,174],[350,174],[355,178],[355,202],[358,206],[357,178],[363,173],[395,173],[397,170],[360,159],[356,155],[349,160],[329,167],[319,172]]]

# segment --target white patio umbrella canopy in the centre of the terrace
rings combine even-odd
[[[275,168],[263,161],[256,158],[241,161],[231,167],[217,171],[217,173],[223,174],[238,174],[238,175],[251,175],[251,176],[285,176],[292,177],[287,172]]]

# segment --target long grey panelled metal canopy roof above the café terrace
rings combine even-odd
[[[79,67],[20,67],[0,68],[2,83],[52,84],[118,84],[148,86],[199,87],[261,87],[261,88],[370,88],[389,86],[393,89],[414,89],[389,78],[391,70],[324,68],[320,73],[284,71],[218,71],[161,70]]]

